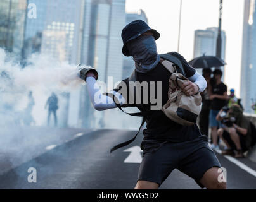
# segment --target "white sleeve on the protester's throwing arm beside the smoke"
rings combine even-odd
[[[94,109],[98,111],[113,109],[116,108],[117,105],[113,101],[113,99],[107,95],[103,95],[101,93],[101,89],[99,88],[95,78],[93,76],[86,77],[87,90],[89,93],[89,97],[91,99],[91,103],[93,104]],[[116,98],[118,98],[118,102],[120,105],[125,103],[124,97],[118,92],[112,90],[110,93],[113,93]]]

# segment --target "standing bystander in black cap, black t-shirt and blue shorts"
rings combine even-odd
[[[212,134],[212,149],[219,149],[217,129],[221,127],[221,122],[216,120],[219,110],[226,105],[229,96],[227,95],[227,86],[222,83],[222,71],[221,69],[215,69],[214,78],[212,79],[212,92],[210,92],[210,128]]]

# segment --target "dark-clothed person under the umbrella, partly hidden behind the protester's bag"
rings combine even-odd
[[[199,115],[199,126],[202,134],[208,136],[209,128],[209,114],[210,114],[210,96],[209,92],[212,91],[212,86],[210,85],[210,77],[212,74],[212,69],[203,69],[203,77],[207,81],[207,88],[201,93],[202,96],[202,108]]]

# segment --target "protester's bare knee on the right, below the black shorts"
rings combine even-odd
[[[222,174],[222,172],[218,172],[219,169],[219,167],[212,167],[208,169],[200,179],[200,183],[207,189],[226,189],[226,179],[222,179],[223,182],[218,181],[218,177]]]

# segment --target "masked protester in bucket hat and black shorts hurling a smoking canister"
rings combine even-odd
[[[132,56],[135,61],[136,81],[146,84],[153,82],[155,86],[153,92],[155,92],[155,96],[162,94],[163,105],[168,100],[171,73],[160,63],[160,57],[157,54],[155,40],[159,36],[159,33],[150,29],[144,21],[132,21],[122,31],[124,42],[122,52],[125,56]],[[174,54],[180,59],[184,59],[178,53]],[[206,87],[206,81],[202,80],[203,77],[189,65],[184,71],[190,81],[182,86],[182,90],[187,95],[195,95],[198,91],[202,92]],[[105,110],[117,107],[110,100],[107,100],[105,104],[95,100],[94,95],[99,87],[96,83],[96,75],[92,71],[89,71],[84,77],[95,109]],[[157,81],[162,82],[162,88],[157,88]],[[120,94],[121,90],[124,92],[122,89],[124,86],[127,91],[126,96]],[[130,103],[128,78],[111,92],[115,94],[115,97],[119,97],[118,103],[122,107],[136,106],[141,109],[141,104]],[[154,105],[151,100],[144,100],[143,94],[141,94],[141,98],[143,110],[149,110]],[[102,95],[101,99],[107,98]],[[139,167],[135,189],[157,189],[174,169],[179,169],[189,175],[201,187],[226,188],[225,182],[218,181],[221,165],[214,151],[208,146],[207,137],[200,134],[196,124],[182,126],[171,121],[162,110],[155,110],[153,114],[146,116],[146,129],[143,130],[143,134],[144,139],[141,143],[143,161]]]

